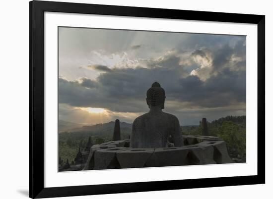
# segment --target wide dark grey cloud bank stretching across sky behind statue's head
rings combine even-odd
[[[146,91],[153,82],[157,81],[165,89],[166,102],[169,100],[178,104],[168,110],[182,109],[183,102],[188,102],[187,107],[206,108],[245,103],[244,45],[244,41],[239,41],[234,47],[223,45],[210,50],[211,75],[205,81],[196,75],[189,75],[180,64],[181,58],[178,54],[170,53],[159,59],[147,60],[148,68],[139,65],[136,68],[109,69],[107,66],[96,65],[95,69],[103,73],[95,80],[82,78],[81,82],[78,82],[60,78],[59,99],[61,103],[71,106],[103,107],[119,112],[143,112],[147,110]],[[204,49],[193,50],[191,54],[209,59]],[[231,56],[240,59],[232,62]]]

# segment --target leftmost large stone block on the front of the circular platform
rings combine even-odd
[[[116,157],[116,152],[125,150],[124,147],[117,147],[112,149],[98,149],[94,156],[94,169],[118,169],[121,168]]]

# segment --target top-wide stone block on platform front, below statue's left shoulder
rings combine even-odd
[[[117,151],[117,158],[121,168],[146,167],[145,162],[154,152],[154,149],[133,149]]]

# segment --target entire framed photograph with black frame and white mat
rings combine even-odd
[[[265,16],[29,2],[29,197],[265,183]]]

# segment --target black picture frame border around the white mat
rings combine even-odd
[[[257,175],[106,185],[44,187],[44,12],[186,19],[258,25]],[[259,133],[258,133],[259,132]],[[265,16],[52,1],[29,2],[29,197],[51,198],[265,183]]]

